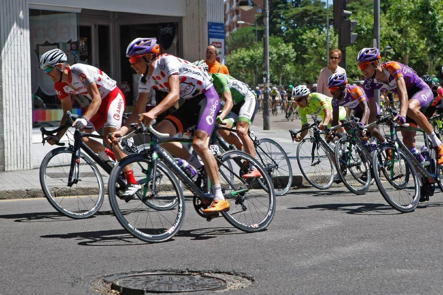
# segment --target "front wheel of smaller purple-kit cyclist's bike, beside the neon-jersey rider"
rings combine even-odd
[[[347,137],[335,146],[335,163],[343,183],[356,195],[366,193],[371,185],[369,161],[361,148]]]

